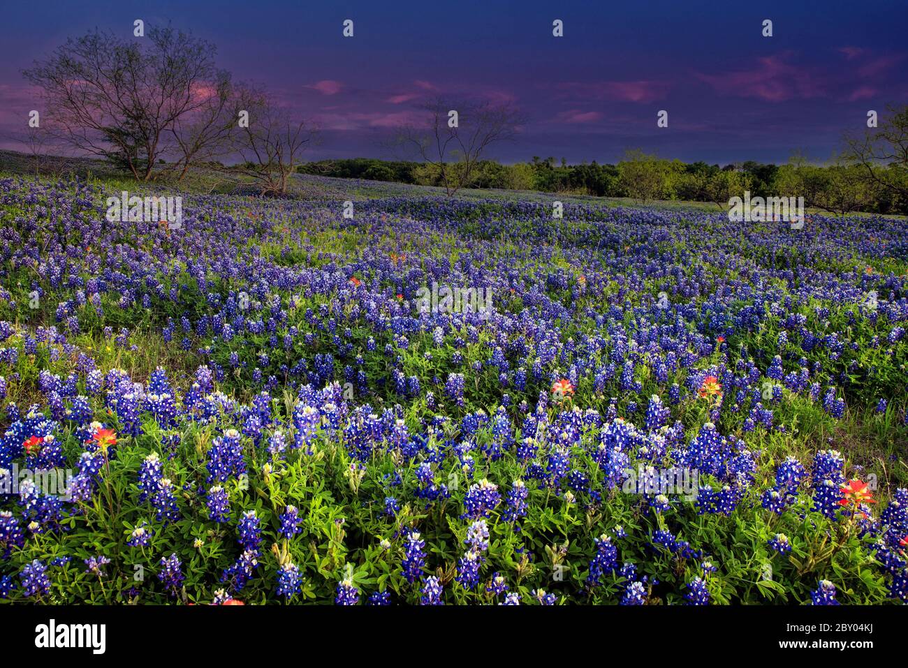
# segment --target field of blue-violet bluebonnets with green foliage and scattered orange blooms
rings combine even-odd
[[[0,178],[0,600],[908,600],[904,221],[306,183]]]

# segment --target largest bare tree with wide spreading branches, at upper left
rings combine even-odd
[[[170,26],[152,27],[138,42],[95,31],[67,40],[23,74],[43,90],[64,142],[148,181],[181,134],[179,122],[205,116],[210,96],[202,92],[219,90],[214,53],[212,44]]]

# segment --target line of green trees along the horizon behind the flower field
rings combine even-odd
[[[908,107],[888,110],[878,128],[846,134],[843,147],[824,165],[795,152],[782,165],[739,162],[719,166],[706,162],[666,160],[629,151],[617,164],[568,164],[564,158],[534,156],[530,162],[501,164],[474,160],[469,170],[459,162],[442,169],[433,161],[358,158],[303,165],[304,172],[342,178],[434,185],[451,192],[462,187],[499,188],[629,197],[654,200],[713,202],[725,208],[735,196],[804,197],[804,203],[836,214],[852,211],[908,215]]]

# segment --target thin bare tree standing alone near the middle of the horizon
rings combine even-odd
[[[427,113],[428,124],[403,127],[396,143],[436,172],[449,197],[469,185],[489,146],[514,139],[524,122],[507,104],[436,98],[419,108]]]

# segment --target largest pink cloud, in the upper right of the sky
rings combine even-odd
[[[785,63],[786,54],[765,56],[748,70],[724,74],[697,74],[718,93],[755,97],[765,102],[785,102],[824,94],[821,77],[804,67]]]

